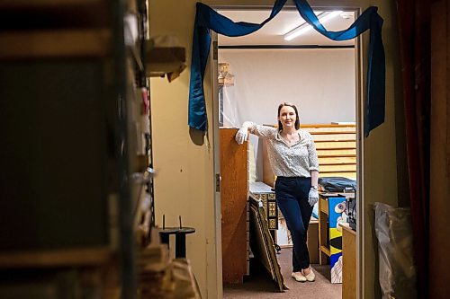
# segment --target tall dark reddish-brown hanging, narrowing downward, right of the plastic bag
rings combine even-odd
[[[419,298],[428,297],[429,145],[431,109],[430,4],[424,0],[397,0],[401,75],[410,208]]]

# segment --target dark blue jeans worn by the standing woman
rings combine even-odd
[[[276,202],[293,239],[293,272],[310,267],[310,253],[306,245],[306,235],[312,214],[312,207],[308,202],[310,189],[311,178],[276,178]]]

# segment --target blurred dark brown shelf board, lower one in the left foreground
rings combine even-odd
[[[112,250],[76,249],[0,253],[0,268],[49,268],[102,265],[112,259]]]

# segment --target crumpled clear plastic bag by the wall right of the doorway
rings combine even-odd
[[[410,209],[380,202],[374,209],[383,298],[417,298]]]

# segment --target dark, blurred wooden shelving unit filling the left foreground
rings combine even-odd
[[[137,296],[137,226],[154,223],[146,5],[0,3],[0,297]]]

